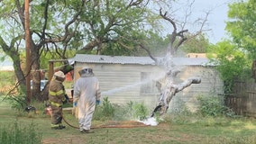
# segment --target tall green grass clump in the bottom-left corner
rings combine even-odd
[[[37,131],[36,125],[18,124],[17,121],[13,125],[1,124],[0,141],[5,144],[39,144],[41,143],[41,133]]]

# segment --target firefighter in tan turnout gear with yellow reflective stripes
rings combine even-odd
[[[62,121],[62,104],[67,103],[67,96],[62,82],[65,80],[65,75],[62,71],[54,73],[49,86],[49,102],[51,107],[51,129],[61,130],[65,126]]]

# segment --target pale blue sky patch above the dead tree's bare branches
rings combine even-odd
[[[206,18],[206,13],[210,14],[207,17],[206,25],[204,30],[207,34],[207,38],[210,43],[215,44],[218,41],[228,38],[225,29],[225,22],[228,20],[228,4],[232,4],[235,0],[176,0],[176,3],[171,4],[173,10],[168,12],[170,17],[174,18],[179,22],[187,22],[184,29],[187,29],[191,33],[195,33],[200,29],[201,24],[195,24],[200,19]],[[193,3],[194,2],[194,3]],[[186,11],[191,6],[191,14],[186,17]],[[157,9],[157,8],[156,8]],[[172,27],[169,27],[169,22],[163,21],[164,29],[163,35],[169,34]],[[167,27],[166,27],[167,26]]]

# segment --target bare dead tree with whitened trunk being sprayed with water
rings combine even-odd
[[[149,50],[148,45],[145,45],[143,42],[139,45],[142,49],[145,49],[148,51],[148,54],[150,57],[156,62],[157,65],[163,66],[165,68],[165,76],[157,82],[157,87],[160,91],[160,99],[159,103],[154,109],[154,111],[151,114],[151,117],[154,116],[156,112],[160,112],[160,115],[164,114],[168,111],[169,103],[171,99],[177,94],[178,92],[182,91],[184,88],[186,88],[189,85],[192,84],[199,84],[201,83],[200,77],[190,77],[187,78],[184,82],[180,84],[174,83],[174,78],[178,75],[180,72],[179,68],[175,66],[173,63],[172,58],[177,55],[177,51],[180,48],[180,46],[187,40],[187,29],[185,28],[185,23],[178,24],[178,21],[175,21],[175,19],[172,17],[172,15],[169,15],[167,12],[163,13],[162,9],[160,8],[159,11],[160,17],[167,21],[169,23],[169,26],[172,28],[172,31],[169,34],[169,45],[166,50],[166,55],[164,58],[155,58],[151,51]],[[207,18],[208,13],[206,14]],[[201,29],[196,31],[196,33],[193,34],[193,37],[196,37],[200,33],[202,33],[204,30],[204,24],[206,23],[206,18],[202,19],[202,25]],[[180,27],[178,27],[178,25]]]

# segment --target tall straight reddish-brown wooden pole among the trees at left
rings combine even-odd
[[[30,0],[25,0],[25,43],[26,43],[26,96],[27,105],[31,103],[31,49],[30,49]]]

